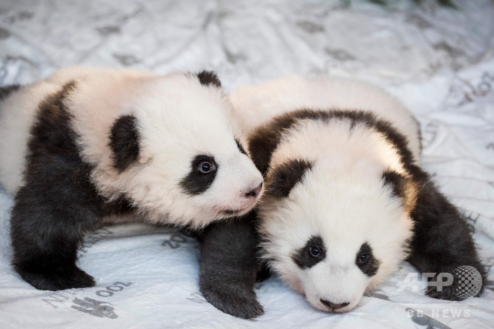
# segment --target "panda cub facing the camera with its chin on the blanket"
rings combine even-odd
[[[292,77],[240,88],[231,100],[265,177],[256,207],[261,258],[315,308],[353,309],[405,259],[420,272],[470,265],[485,278],[466,223],[418,167],[418,124],[395,99],[353,80]],[[220,249],[227,242],[210,244]],[[254,257],[250,244],[238,249],[237,259]],[[223,250],[231,259],[231,248]],[[252,272],[234,264],[237,276]],[[262,314],[250,289],[255,276],[249,278],[237,284],[246,292],[237,293],[228,313]],[[461,299],[457,281],[426,293]],[[213,304],[224,308],[215,296]]]

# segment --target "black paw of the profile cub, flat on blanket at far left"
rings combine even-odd
[[[65,267],[53,271],[19,271],[21,277],[39,290],[64,290],[72,288],[94,287],[94,278],[77,266]]]

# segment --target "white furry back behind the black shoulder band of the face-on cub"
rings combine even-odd
[[[366,110],[390,121],[420,160],[418,125],[400,102],[369,83],[345,78],[289,76],[242,86],[230,94],[242,127],[251,129],[291,110]]]

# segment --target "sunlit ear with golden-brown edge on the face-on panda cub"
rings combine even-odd
[[[394,170],[382,174],[384,186],[390,186],[394,196],[402,199],[403,208],[410,213],[415,208],[418,186],[411,177],[402,175]]]

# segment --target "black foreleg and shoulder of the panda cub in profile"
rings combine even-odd
[[[15,270],[41,290],[91,287],[94,279],[76,266],[82,233],[93,228],[107,205],[90,182],[72,129],[65,98],[71,81],[40,104],[31,127],[23,186],[11,213]]]

